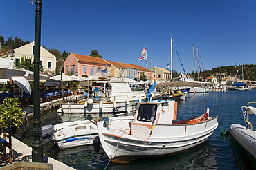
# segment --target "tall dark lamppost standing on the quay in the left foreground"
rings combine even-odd
[[[44,162],[43,147],[44,142],[41,140],[42,129],[40,120],[40,40],[41,40],[41,7],[42,1],[35,2],[35,46],[34,46],[34,88],[33,88],[33,102],[34,102],[34,122],[33,122],[33,136],[34,140],[32,147],[32,162]]]

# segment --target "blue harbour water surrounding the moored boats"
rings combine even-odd
[[[219,116],[219,126],[212,136],[199,147],[185,153],[165,158],[136,160],[129,164],[111,164],[109,169],[256,169],[256,159],[253,158],[230,135],[221,135],[221,129],[229,129],[233,123],[244,125],[241,106],[248,102],[256,102],[256,90],[210,92],[205,94],[189,94],[187,99],[179,101],[178,119],[189,118],[203,114],[210,108],[210,116]],[[56,110],[42,114],[42,125],[58,124],[63,121],[85,120],[87,115],[59,115]],[[256,126],[256,116],[250,119]],[[28,125],[28,127],[31,127]],[[255,129],[255,127],[253,127]],[[31,130],[26,132],[30,141]],[[20,139],[30,144],[30,141]],[[100,145],[83,146],[58,151],[55,147],[45,147],[46,155],[64,162],[75,169],[104,169],[109,158]]]

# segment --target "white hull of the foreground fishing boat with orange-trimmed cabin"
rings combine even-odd
[[[124,123],[125,124],[125,123]],[[217,117],[190,125],[156,125],[152,135],[138,138],[129,131],[107,130],[98,122],[100,142],[113,162],[174,155],[205,142],[218,126]],[[127,129],[127,125],[121,127]]]

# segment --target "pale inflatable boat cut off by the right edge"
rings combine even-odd
[[[256,115],[256,108],[249,106],[250,104],[256,104],[256,102],[248,102],[247,106],[242,106],[242,113],[246,125],[232,124],[229,132],[246,151],[256,158],[256,131],[253,130],[253,124],[249,121],[250,114]]]

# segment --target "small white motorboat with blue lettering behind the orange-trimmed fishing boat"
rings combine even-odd
[[[64,122],[61,124],[42,126],[42,138],[49,144],[57,144],[60,149],[78,147],[88,144],[100,143],[96,122],[105,120],[106,117],[98,117],[96,120],[82,120]],[[109,121],[133,120],[133,116],[111,117]]]

